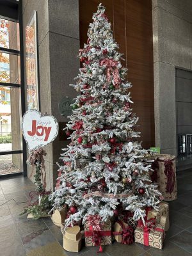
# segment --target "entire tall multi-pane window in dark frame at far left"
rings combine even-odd
[[[0,176],[22,167],[19,23],[0,18]]]

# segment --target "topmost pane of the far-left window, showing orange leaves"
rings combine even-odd
[[[19,50],[19,23],[0,19],[0,47]]]

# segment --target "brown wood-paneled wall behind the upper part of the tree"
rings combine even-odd
[[[133,111],[140,117],[143,147],[155,145],[154,63],[151,0],[102,0],[113,35],[124,53],[127,79],[133,84]],[[80,44],[87,40],[88,25],[100,0],[79,0]]]

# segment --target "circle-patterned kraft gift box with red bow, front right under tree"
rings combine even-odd
[[[164,234],[163,225],[157,224],[154,227],[151,227],[150,225],[147,225],[147,221],[145,225],[141,224],[139,221],[138,226],[134,230],[134,239],[136,243],[162,249],[165,237]]]

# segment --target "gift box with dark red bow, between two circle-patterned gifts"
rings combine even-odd
[[[118,243],[132,244],[134,242],[134,229],[124,221],[118,220],[114,225],[113,235]]]

